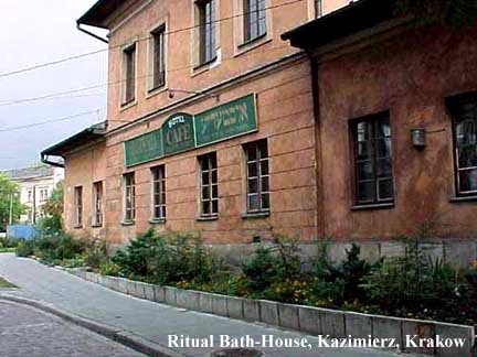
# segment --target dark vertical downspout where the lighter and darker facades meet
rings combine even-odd
[[[315,115],[315,158],[316,158],[316,178],[317,178],[317,231],[318,237],[326,239],[326,227],[325,227],[325,199],[324,199],[324,177],[322,177],[322,150],[321,150],[321,120],[320,120],[320,99],[319,99],[319,65],[317,58],[307,52],[308,58],[311,66],[311,93],[314,102],[314,115]]]

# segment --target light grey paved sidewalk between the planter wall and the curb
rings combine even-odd
[[[259,339],[263,335],[275,337],[304,337],[261,324],[245,323],[225,317],[186,311],[127,296],[104,286],[84,281],[66,272],[47,268],[30,259],[0,255],[0,277],[21,289],[9,292],[19,296],[43,301],[73,314],[126,329],[148,340],[168,346],[168,335],[209,337],[250,335]],[[1,294],[1,292],[0,292]],[[307,337],[315,346],[316,337]],[[212,348],[173,348],[188,356],[203,356]],[[267,356],[326,356],[326,357],[390,357],[399,354],[364,348],[267,348]],[[93,355],[100,356],[100,355]],[[410,355],[406,355],[410,356]]]

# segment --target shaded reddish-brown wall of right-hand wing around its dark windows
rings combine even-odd
[[[452,118],[445,98],[477,89],[477,29],[416,29],[339,57],[318,72],[325,232],[336,239],[390,238],[433,223],[435,236],[477,236],[476,203],[455,196]],[[395,206],[351,210],[349,120],[390,111]],[[410,129],[422,127],[416,150]]]

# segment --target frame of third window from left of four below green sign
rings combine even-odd
[[[206,167],[204,169],[203,163],[206,160]],[[202,218],[214,218],[219,216],[219,165],[216,152],[209,152],[206,154],[198,156],[199,163],[199,212]],[[215,175],[214,175],[215,173]],[[208,183],[204,183],[204,174],[206,174]],[[216,187],[215,195],[213,187]],[[209,198],[205,198],[203,193],[206,190]],[[204,209],[204,204],[209,204],[209,212]],[[215,204],[215,206],[214,206]],[[215,209],[214,209],[215,208]]]

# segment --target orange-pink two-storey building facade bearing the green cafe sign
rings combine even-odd
[[[280,34],[343,1],[98,1],[108,118],[64,156],[65,225],[124,245],[149,227],[209,242],[317,236],[310,66]]]

